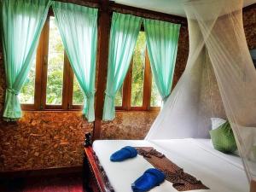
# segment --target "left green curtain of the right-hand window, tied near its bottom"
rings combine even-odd
[[[103,120],[112,120],[115,116],[114,97],[124,82],[142,21],[137,16],[113,13]]]

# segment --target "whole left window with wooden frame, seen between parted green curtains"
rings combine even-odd
[[[81,109],[84,103],[53,13],[45,22],[32,70],[20,90],[20,103],[24,110]]]

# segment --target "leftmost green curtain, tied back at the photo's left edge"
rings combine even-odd
[[[4,67],[7,90],[3,119],[21,117],[19,91],[38,46],[50,0],[0,0]]]

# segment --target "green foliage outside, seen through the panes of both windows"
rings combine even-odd
[[[141,107],[143,105],[143,82],[145,67],[146,37],[144,32],[140,32],[133,55],[132,79],[131,79],[131,106]],[[64,67],[64,46],[61,35],[55,24],[55,18],[49,20],[49,55],[46,103],[51,105],[61,105],[63,88],[63,67]],[[34,103],[36,59],[32,64],[32,69],[20,90],[20,103]],[[123,87],[115,96],[115,105],[122,106]],[[79,87],[78,80],[73,79],[73,104],[83,104],[84,96]],[[154,79],[152,81],[152,91],[150,105],[152,107],[161,106],[160,94],[157,90]]]

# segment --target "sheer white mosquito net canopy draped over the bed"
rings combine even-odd
[[[145,139],[208,138],[211,118],[229,119],[248,180],[256,179],[256,70],[242,24],[242,0],[183,3],[189,58]]]

